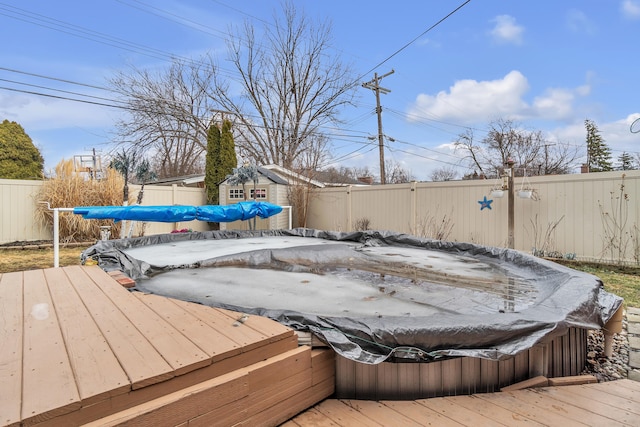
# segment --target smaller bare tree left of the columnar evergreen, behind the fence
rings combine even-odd
[[[166,71],[116,74],[110,84],[128,111],[117,124],[117,142],[149,152],[160,177],[202,172],[215,106],[205,83],[215,72],[208,61],[174,60]]]

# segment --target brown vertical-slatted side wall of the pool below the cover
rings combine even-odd
[[[456,357],[430,363],[365,365],[336,356],[340,399],[422,399],[491,393],[537,377],[578,375],[586,364],[587,331],[569,328],[560,336],[502,361]]]

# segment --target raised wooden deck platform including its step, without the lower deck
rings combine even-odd
[[[291,329],[98,267],[0,275],[0,343],[1,426],[277,425],[334,390],[333,353]]]

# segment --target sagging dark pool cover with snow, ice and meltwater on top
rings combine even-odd
[[[83,253],[137,289],[270,317],[364,363],[500,360],[622,300],[521,252],[391,232],[206,232],[101,241]]]

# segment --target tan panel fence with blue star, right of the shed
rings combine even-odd
[[[525,182],[516,178],[515,190],[531,184],[535,192],[531,199],[515,198],[515,248],[637,263],[640,171],[624,175],[624,179],[622,172],[554,175]],[[312,198],[308,226],[350,231],[366,225],[504,247],[508,198],[489,194],[496,184],[476,180],[325,188]],[[493,199],[491,209],[480,210],[478,202],[484,196]]]

